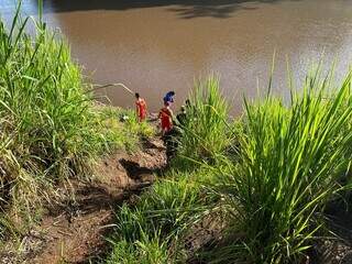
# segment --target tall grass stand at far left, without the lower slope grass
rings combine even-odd
[[[2,186],[7,196],[41,191],[50,183],[85,170],[89,148],[85,141],[90,96],[85,94],[80,68],[59,35],[30,19],[12,25],[0,21],[0,127]]]

